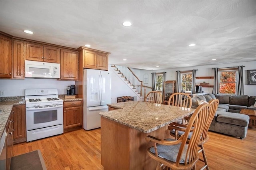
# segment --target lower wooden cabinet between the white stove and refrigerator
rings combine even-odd
[[[66,101],[63,108],[64,132],[82,127],[82,101]]]

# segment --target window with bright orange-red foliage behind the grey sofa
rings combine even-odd
[[[237,85],[237,69],[219,69],[220,93],[235,94]]]

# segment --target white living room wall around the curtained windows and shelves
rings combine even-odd
[[[256,69],[256,61],[250,61],[250,62],[240,62],[240,63],[229,63],[229,64],[220,64],[220,65],[202,65],[197,67],[182,67],[182,68],[175,68],[175,69],[162,69],[162,70],[141,70],[140,71],[140,79],[143,79],[144,74],[148,74],[148,83],[144,84],[146,86],[152,86],[152,72],[166,72],[166,80],[176,80],[176,71],[184,71],[184,70],[192,70],[192,69],[198,69],[196,71],[196,77],[200,76],[213,76],[214,67],[236,67],[239,65],[244,65],[244,95],[248,96],[256,96],[256,85],[246,85],[247,83],[247,70]],[[205,81],[206,83],[210,83],[210,85],[213,85],[213,79],[196,79],[196,85],[199,85],[199,83],[203,83]],[[204,92],[212,93],[212,88],[209,87],[203,87]]]

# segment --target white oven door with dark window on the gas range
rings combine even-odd
[[[27,131],[61,124],[63,124],[63,105],[26,108]]]

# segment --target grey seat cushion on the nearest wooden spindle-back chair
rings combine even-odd
[[[174,141],[175,139],[165,139],[168,141]],[[177,156],[178,156],[178,152],[180,150],[180,145],[179,144],[174,144],[174,145],[162,145],[162,144],[156,144],[157,147],[157,152],[158,152],[158,156],[160,158],[164,158],[166,160],[172,161],[172,162],[176,162]],[[185,158],[186,158],[186,152],[188,150],[188,145],[185,145],[181,159],[180,159],[180,164],[184,164],[185,163]],[[156,153],[155,152],[155,148],[154,146],[152,146],[150,148],[150,152],[152,153]],[[186,160],[186,162],[188,162],[188,159]]]

